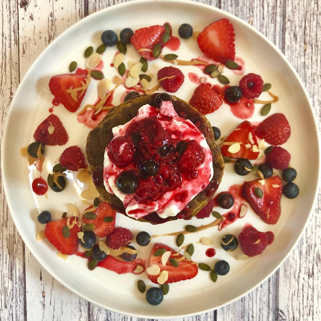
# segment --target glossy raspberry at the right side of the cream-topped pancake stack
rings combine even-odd
[[[178,166],[183,172],[193,171],[203,164],[204,160],[205,155],[203,148],[192,140],[178,160]]]

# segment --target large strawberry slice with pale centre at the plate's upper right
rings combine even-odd
[[[215,21],[198,35],[197,43],[205,56],[225,64],[235,59],[234,28],[229,19]]]

